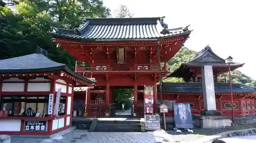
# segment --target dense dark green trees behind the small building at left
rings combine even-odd
[[[48,51],[56,62],[72,70],[75,58],[52,42],[51,26],[74,28],[86,17],[108,17],[110,9],[100,0],[20,0],[0,4],[0,59]]]

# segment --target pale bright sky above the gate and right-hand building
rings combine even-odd
[[[239,70],[256,79],[254,74],[256,35],[256,1],[254,0],[103,0],[112,12],[126,5],[134,17],[166,16],[169,28],[191,25],[194,30],[185,42],[199,51],[209,44],[223,59],[246,63]]]

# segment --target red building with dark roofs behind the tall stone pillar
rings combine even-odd
[[[215,54],[209,46],[198,52],[188,63],[183,63],[176,71],[167,77],[182,77],[185,83],[163,83],[163,100],[169,106],[167,115],[172,116],[172,103],[190,103],[194,115],[200,115],[204,110],[203,88],[201,80],[202,65],[212,65],[215,81],[215,97],[217,111],[223,116],[231,116],[230,86],[227,81],[217,79],[218,75],[228,72],[228,64]],[[230,69],[235,70],[244,65],[231,63]],[[254,87],[242,83],[232,83],[234,116],[255,115]],[[159,99],[159,97],[158,97]]]

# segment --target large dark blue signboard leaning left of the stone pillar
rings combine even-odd
[[[178,129],[193,129],[193,119],[190,103],[174,103],[174,127]]]

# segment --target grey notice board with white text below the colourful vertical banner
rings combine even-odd
[[[145,115],[146,130],[160,130],[159,115]]]

